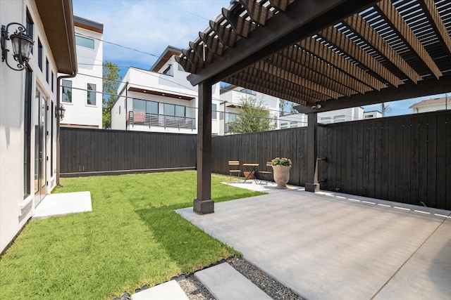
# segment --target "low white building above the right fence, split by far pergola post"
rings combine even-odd
[[[373,113],[373,115],[376,115],[376,113]],[[317,117],[319,124],[357,121],[364,119],[364,109],[362,107],[350,107],[342,110],[330,110],[329,112],[319,112]],[[278,129],[304,127],[307,126],[307,122],[308,117],[304,114],[284,115],[279,117]]]

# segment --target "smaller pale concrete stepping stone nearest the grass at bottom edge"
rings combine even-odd
[[[132,294],[132,300],[189,300],[178,282],[171,280]]]

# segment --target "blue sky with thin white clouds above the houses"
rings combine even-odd
[[[116,63],[123,75],[129,66],[150,69],[167,46],[187,48],[229,5],[230,0],[73,0],[73,12],[104,25],[104,60]],[[385,116],[412,113],[410,105],[442,96],[385,103],[391,109]],[[381,111],[381,105],[364,110]]]

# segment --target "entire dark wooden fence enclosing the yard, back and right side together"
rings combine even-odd
[[[319,127],[321,189],[451,209],[451,111]],[[61,176],[195,169],[197,136],[175,133],[61,129]],[[289,157],[290,184],[304,185],[307,128],[212,141],[212,171],[228,160]]]

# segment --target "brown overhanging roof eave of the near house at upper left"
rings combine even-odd
[[[36,1],[59,73],[78,72],[72,0]]]

